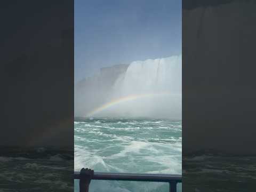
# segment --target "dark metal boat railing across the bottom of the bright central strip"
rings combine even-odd
[[[80,172],[74,173],[74,179],[81,179]],[[117,181],[150,181],[168,182],[170,192],[177,191],[177,183],[182,182],[181,175],[178,174],[137,174],[137,173],[100,173],[94,172],[93,180],[117,180]],[[84,192],[81,191],[80,192]]]

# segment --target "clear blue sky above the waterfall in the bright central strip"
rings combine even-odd
[[[75,83],[102,67],[181,54],[181,0],[75,0]]]

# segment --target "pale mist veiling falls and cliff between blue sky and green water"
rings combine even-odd
[[[75,116],[181,119],[181,55],[102,68],[75,85]]]

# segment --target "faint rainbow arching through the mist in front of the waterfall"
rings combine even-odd
[[[113,101],[107,102],[103,104],[102,106],[95,108],[94,110],[90,111],[85,115],[85,117],[92,117],[93,115],[99,113],[100,111],[103,111],[105,109],[108,109],[110,107],[113,107],[115,105],[118,105],[119,103],[124,103],[127,101],[133,101],[136,99],[140,98],[147,98],[147,97],[157,97],[157,96],[164,96],[164,95],[172,95],[172,96],[177,96],[180,94],[173,94],[169,92],[162,92],[162,93],[147,93],[147,94],[133,94],[133,95],[128,95],[126,97],[118,98]]]

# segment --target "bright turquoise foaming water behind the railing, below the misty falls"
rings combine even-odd
[[[75,170],[181,174],[181,121],[75,119]],[[75,191],[78,191],[75,181]],[[92,181],[92,191],[168,191],[166,183]],[[181,191],[181,185],[178,185]]]

